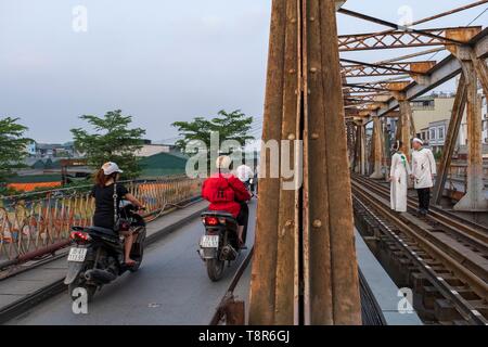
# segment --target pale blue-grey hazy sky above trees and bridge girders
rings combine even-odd
[[[348,0],[345,8],[398,23],[471,2]],[[486,8],[426,25],[464,26]],[[146,138],[170,143],[174,121],[242,110],[257,117],[260,136],[270,12],[271,0],[0,0],[0,117],[20,117],[38,142],[66,142],[69,129],[84,126],[80,115],[123,110]],[[472,25],[487,23],[485,12]],[[385,27],[339,14],[338,29]],[[344,57],[372,62],[414,51]]]

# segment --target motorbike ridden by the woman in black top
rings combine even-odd
[[[84,288],[91,301],[97,291],[114,282],[127,271],[139,270],[144,256],[146,227],[138,208],[127,204],[120,209],[120,217],[130,222],[136,241],[130,257],[136,265],[128,267],[124,262],[124,236],[111,229],[98,227],[72,227],[73,246],[68,254],[68,270],[64,283],[69,296],[78,297],[77,290]]]

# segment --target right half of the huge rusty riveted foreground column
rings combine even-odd
[[[303,0],[305,324],[361,324],[334,0]],[[321,188],[321,189],[318,189]]]

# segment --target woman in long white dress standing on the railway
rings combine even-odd
[[[389,172],[391,209],[398,213],[407,211],[408,180],[411,175],[407,160],[407,151],[401,141],[397,141],[394,147]]]

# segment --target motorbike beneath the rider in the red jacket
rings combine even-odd
[[[201,239],[198,254],[206,264],[209,279],[217,282],[223,277],[226,262],[230,266],[240,255],[237,221],[224,211],[206,211],[202,214],[202,222],[205,234]]]

